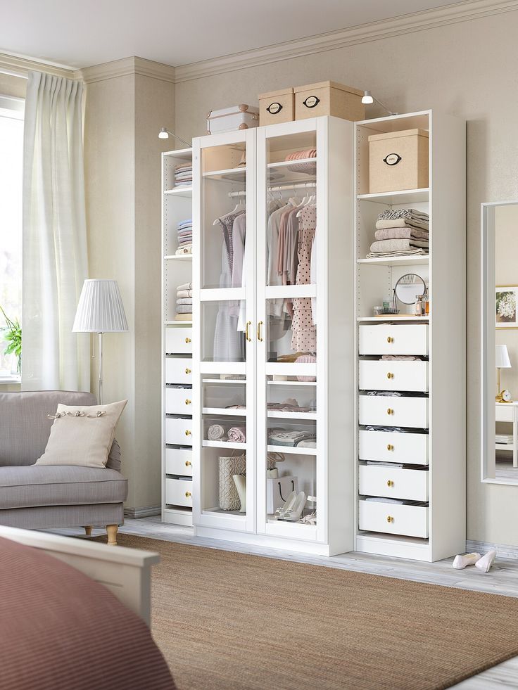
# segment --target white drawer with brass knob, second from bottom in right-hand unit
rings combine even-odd
[[[428,472],[383,465],[360,465],[360,494],[406,501],[428,501]]]

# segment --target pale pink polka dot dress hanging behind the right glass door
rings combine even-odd
[[[298,224],[298,268],[296,285],[311,282],[311,246],[315,237],[317,207],[306,206],[301,210]],[[291,349],[299,352],[317,352],[317,329],[313,326],[311,298],[293,300],[293,321],[291,324]]]

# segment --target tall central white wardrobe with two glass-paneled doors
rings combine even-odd
[[[193,151],[195,532],[313,554],[350,551],[353,123],[318,117],[203,136]],[[279,275],[270,223],[296,195],[306,204],[316,196],[316,211],[301,210],[300,280]],[[229,243],[232,212],[241,218]],[[286,437],[304,441],[281,445]],[[277,453],[284,461],[272,479],[267,458]],[[246,459],[246,501],[227,510],[219,459],[233,454]],[[286,487],[310,497],[304,523],[275,517]]]

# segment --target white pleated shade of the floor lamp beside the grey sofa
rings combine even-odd
[[[126,314],[117,281],[84,281],[72,333],[123,333],[127,330]]]

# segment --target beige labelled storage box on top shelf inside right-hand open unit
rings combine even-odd
[[[424,129],[369,136],[369,192],[427,187],[428,145]]]

